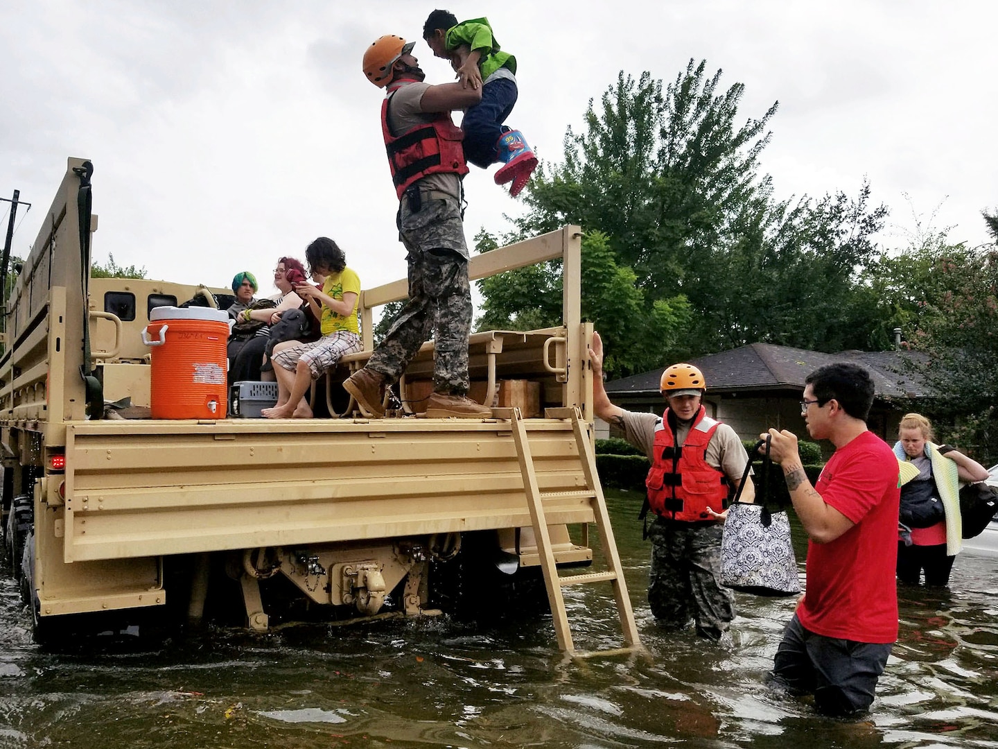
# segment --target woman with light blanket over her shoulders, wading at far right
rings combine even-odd
[[[988,471],[976,460],[946,444],[932,442],[932,425],[920,413],[908,413],[897,430],[894,454],[901,462],[901,509],[898,518],[897,579],[917,585],[946,585],[962,545],[960,481],[982,481]]]

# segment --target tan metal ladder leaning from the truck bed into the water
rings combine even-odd
[[[501,415],[500,411],[503,411]],[[534,526],[541,569],[544,573],[544,585],[547,588],[548,601],[551,604],[551,613],[554,617],[558,647],[573,657],[609,655],[640,649],[641,643],[638,638],[638,627],[635,624],[631,599],[628,597],[627,584],[624,581],[624,571],[621,567],[620,554],[617,551],[617,543],[614,540],[613,528],[610,526],[610,514],[607,511],[606,498],[603,495],[603,488],[600,486],[599,476],[596,472],[596,456],[590,442],[589,431],[583,425],[579,409],[576,407],[547,408],[545,416],[547,418],[571,419],[572,421],[572,430],[575,433],[579,459],[582,461],[586,477],[586,489],[582,493],[588,498],[593,507],[594,521],[596,527],[599,529],[600,539],[603,543],[607,570],[603,572],[568,575],[559,575],[558,566],[555,563],[551,547],[551,536],[548,532],[547,518],[544,514],[544,497],[547,494],[542,492],[537,485],[537,472],[534,468],[534,459],[530,451],[530,443],[527,439],[527,429],[524,424],[523,415],[519,408],[496,408],[494,412],[501,418],[509,418],[513,426],[513,441],[516,444],[520,472],[523,474],[523,486],[527,493],[527,504],[530,507],[530,517]],[[551,495],[557,493],[551,492]],[[575,494],[576,492],[572,493]],[[576,652],[572,643],[572,630],[569,627],[568,615],[565,611],[565,599],[562,596],[562,587],[565,585],[581,585],[607,581],[613,587],[625,647],[599,652]]]

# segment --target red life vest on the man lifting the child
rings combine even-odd
[[[388,167],[398,199],[416,180],[431,174],[453,173],[464,176],[468,165],[464,162],[461,141],[464,133],[454,125],[450,113],[439,112],[425,125],[416,125],[397,138],[388,127],[388,102],[392,94],[406,83],[396,81],[388,87],[388,95],[381,104],[381,132],[388,152]]]

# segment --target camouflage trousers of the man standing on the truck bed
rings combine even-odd
[[[398,313],[367,366],[395,381],[419,347],[433,336],[433,389],[468,391],[468,283],[464,225],[456,201],[423,201],[418,213],[402,201],[399,237],[408,251],[409,301]]]

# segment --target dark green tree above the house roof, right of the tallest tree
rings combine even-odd
[[[872,236],[886,209],[863,184],[844,193],[779,203],[757,196],[687,274],[704,351],[770,343],[822,352],[882,348],[889,338],[864,285],[881,253]],[[877,336],[877,332],[881,332]],[[700,352],[697,352],[700,353]]]

